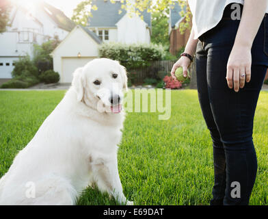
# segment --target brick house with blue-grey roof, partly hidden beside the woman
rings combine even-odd
[[[189,36],[191,34],[190,29],[186,29],[185,33],[180,33],[180,23],[185,21],[185,17],[180,16],[181,8],[178,5],[178,1],[174,5],[170,6],[170,19],[168,34],[170,36],[170,53],[177,55],[178,51],[182,47],[185,47]]]

